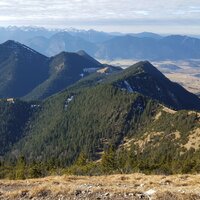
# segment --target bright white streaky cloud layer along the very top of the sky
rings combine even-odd
[[[192,6],[191,6],[192,5]],[[53,15],[63,18],[106,18],[109,13],[112,18],[126,16],[128,19],[148,16],[152,18],[168,18],[172,11],[199,11],[199,0],[1,0],[0,15],[35,16],[43,11],[49,18]],[[132,14],[131,16],[129,14]],[[165,14],[172,14],[172,16]],[[149,16],[151,14],[151,16]],[[177,17],[177,16],[176,16]],[[189,17],[189,16],[188,16]]]

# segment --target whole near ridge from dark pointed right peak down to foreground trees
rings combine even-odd
[[[4,154],[0,177],[18,178],[9,163],[21,155],[25,177],[31,166],[33,177],[66,167],[79,175],[199,172],[200,114],[190,110],[198,101],[149,62],[110,75],[101,69],[40,103]]]

